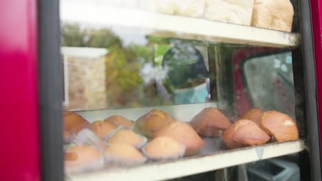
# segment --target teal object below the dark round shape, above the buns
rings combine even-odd
[[[173,92],[175,104],[204,103],[208,96],[206,84],[201,84],[193,88],[175,89]]]

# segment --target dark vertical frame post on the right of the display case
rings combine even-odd
[[[314,2],[313,2],[314,3]],[[299,1],[302,35],[303,72],[305,84],[306,119],[308,120],[308,149],[310,152],[310,179],[321,180],[321,154],[319,119],[316,100],[316,68],[314,62],[314,42],[312,34],[310,0]],[[316,22],[314,22],[316,23]]]

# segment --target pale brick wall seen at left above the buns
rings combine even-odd
[[[68,56],[68,95],[66,110],[106,108],[104,58]]]

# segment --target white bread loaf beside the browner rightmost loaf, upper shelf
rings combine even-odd
[[[250,25],[253,5],[254,0],[206,0],[204,19]]]

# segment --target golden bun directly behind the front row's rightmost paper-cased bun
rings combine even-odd
[[[159,136],[167,136],[175,139],[186,147],[184,156],[191,156],[197,154],[202,147],[204,147],[204,141],[193,130],[191,125],[180,121],[175,121],[154,133],[154,138]]]

